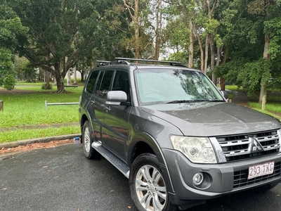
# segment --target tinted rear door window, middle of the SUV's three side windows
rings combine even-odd
[[[100,73],[100,77],[98,78],[98,85],[96,87],[96,94],[98,96],[105,98],[107,91],[110,91],[110,83],[113,73],[113,70],[102,71]]]

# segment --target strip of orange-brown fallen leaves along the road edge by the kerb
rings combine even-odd
[[[73,139],[66,139],[62,141],[50,141],[47,143],[30,143],[25,146],[17,146],[13,148],[1,148],[0,149],[0,154],[3,153],[13,153],[13,152],[21,152],[21,151],[30,151],[38,148],[51,148],[51,147],[56,147],[62,144],[66,143],[73,143]]]

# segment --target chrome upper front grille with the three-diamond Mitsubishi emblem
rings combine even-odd
[[[280,151],[277,131],[216,137],[226,161],[237,161],[271,155]]]

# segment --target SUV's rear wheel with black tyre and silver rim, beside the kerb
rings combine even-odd
[[[100,153],[98,153],[91,145],[93,139],[91,138],[91,128],[88,121],[85,121],[82,129],[82,143],[83,151],[86,158],[98,159],[100,158]]]

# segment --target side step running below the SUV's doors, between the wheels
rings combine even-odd
[[[113,155],[110,151],[108,151],[106,148],[104,148],[101,143],[99,143],[97,141],[94,141],[92,143],[92,147],[96,151],[98,151],[98,153],[100,153],[100,155],[103,155],[103,157],[106,160],[111,162],[111,164],[114,165],[117,168],[117,170],[119,170],[122,174],[124,174],[124,176],[126,178],[129,179],[129,174],[130,174],[129,167],[127,167],[127,165],[122,160],[117,158],[117,156]]]

